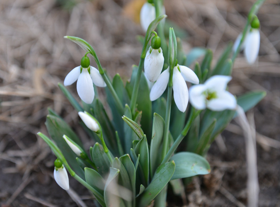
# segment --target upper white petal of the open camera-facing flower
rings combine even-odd
[[[227,75],[213,75],[206,80],[204,85],[211,91],[223,91],[227,88],[227,83],[230,82],[231,76]]]

